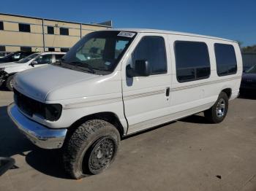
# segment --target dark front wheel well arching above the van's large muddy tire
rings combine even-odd
[[[121,125],[121,122],[119,121],[118,117],[116,114],[113,112],[100,112],[97,114],[90,114],[88,116],[82,117],[76,122],[74,122],[70,127],[68,132],[72,133],[78,126],[83,124],[83,122],[86,122],[87,120],[105,120],[107,122],[110,122],[112,125],[114,125],[118,132],[120,133],[120,137],[124,136],[124,128],[123,125]]]

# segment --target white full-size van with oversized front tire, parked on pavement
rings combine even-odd
[[[241,52],[231,40],[95,31],[60,63],[16,75],[8,112],[38,147],[62,147],[64,168],[80,179],[108,168],[124,136],[198,112],[222,122],[241,74]]]

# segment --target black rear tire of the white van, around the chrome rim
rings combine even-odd
[[[222,101],[223,103],[225,103],[225,110],[224,110],[222,116],[218,116],[218,114],[217,114],[217,107],[218,107],[219,101]],[[215,102],[214,106],[212,106],[210,109],[207,109],[204,112],[204,115],[208,119],[209,122],[219,123],[225,119],[225,117],[227,115],[227,110],[228,110],[228,97],[227,97],[226,93],[222,92],[219,94],[219,97],[218,97],[217,101]]]

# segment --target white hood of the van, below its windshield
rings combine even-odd
[[[99,77],[95,74],[64,69],[59,66],[46,65],[39,68],[22,71],[15,75],[15,90],[34,98],[37,101],[44,102],[50,92],[67,87],[75,83]],[[70,94],[69,94],[70,95]],[[57,98],[66,98],[59,94]]]

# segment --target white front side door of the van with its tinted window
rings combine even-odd
[[[124,113],[128,121],[128,134],[159,125],[170,108],[170,56],[165,34],[140,34],[129,49],[122,65]],[[148,61],[148,77],[127,77],[127,65],[135,61]]]

